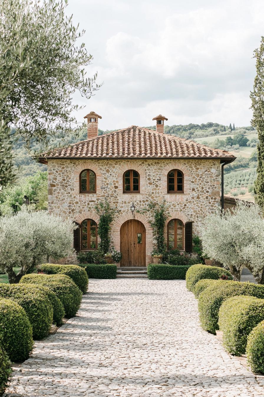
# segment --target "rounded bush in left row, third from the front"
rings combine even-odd
[[[11,299],[23,307],[32,325],[33,339],[49,335],[53,308],[42,291],[30,285],[0,284],[0,297]]]

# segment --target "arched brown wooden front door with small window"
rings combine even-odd
[[[146,229],[145,226],[130,219],[120,229],[120,266],[146,266]]]

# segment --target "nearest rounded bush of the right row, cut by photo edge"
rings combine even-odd
[[[253,328],[249,334],[246,355],[251,371],[264,374],[264,321]]]

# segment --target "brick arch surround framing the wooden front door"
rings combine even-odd
[[[146,229],[146,266],[148,266],[148,264],[151,263],[152,261],[152,257],[150,254],[151,251],[153,250],[152,227],[150,226],[150,223],[148,222],[148,218],[145,215],[139,214],[138,212],[134,212],[134,214],[135,214],[135,219],[141,222]],[[125,212],[124,214],[120,214],[112,224],[111,234],[114,242],[114,248],[117,251],[120,251],[120,228],[124,222],[132,218],[133,217],[131,216],[130,211]]]

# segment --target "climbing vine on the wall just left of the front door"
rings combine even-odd
[[[109,202],[99,202],[98,205],[95,206],[95,210],[100,217],[98,222],[97,233],[101,239],[101,242],[98,245],[98,248],[106,254],[109,250],[110,238],[110,223],[113,220],[115,210],[110,208]]]

